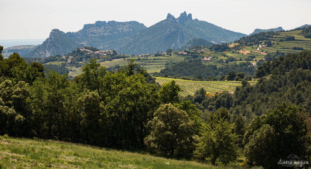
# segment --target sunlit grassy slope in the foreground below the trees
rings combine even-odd
[[[0,136],[0,168],[228,168],[53,140]]]

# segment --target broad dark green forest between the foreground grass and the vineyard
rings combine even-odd
[[[174,80],[156,85],[134,60],[108,72],[92,59],[68,80],[18,53],[4,59],[1,49],[0,135],[231,167],[281,168],[277,162],[289,154],[311,158],[311,52],[265,62],[253,72],[258,84],[244,79],[234,94],[200,89],[179,98],[182,89]],[[216,76],[215,67],[181,64]],[[243,67],[251,66],[236,66],[248,75]]]

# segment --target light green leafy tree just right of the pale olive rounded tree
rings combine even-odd
[[[233,132],[234,125],[221,119],[206,124],[202,137],[198,139],[194,155],[198,159],[211,161],[213,165],[227,164],[238,156],[238,136]]]

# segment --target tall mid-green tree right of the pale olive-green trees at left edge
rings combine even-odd
[[[67,138],[67,112],[75,97],[67,78],[68,75],[59,75],[53,70],[49,71],[47,78],[36,79],[31,86],[28,104],[33,109],[32,124],[39,137]]]

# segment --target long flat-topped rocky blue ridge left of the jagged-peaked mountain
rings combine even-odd
[[[77,32],[63,32],[53,29],[38,48],[29,53],[27,57],[48,57],[56,54],[65,55],[77,47],[94,46],[96,48],[108,48],[112,41],[123,39],[137,34],[146,26],[136,21],[96,21],[95,24],[85,24],[83,29]]]

